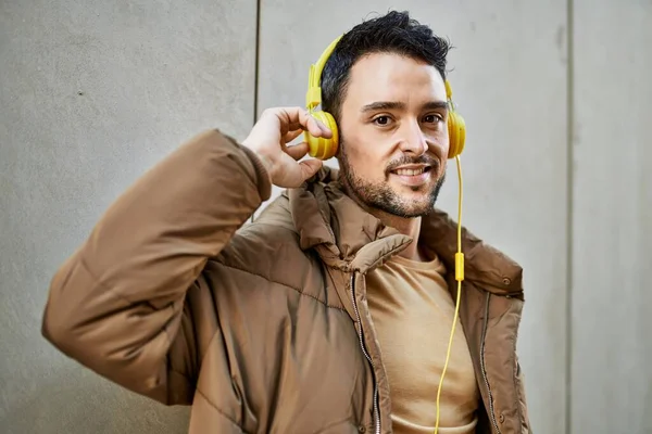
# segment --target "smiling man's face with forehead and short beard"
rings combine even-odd
[[[434,66],[388,53],[358,61],[341,105],[338,157],[358,200],[400,217],[432,209],[446,175],[447,116]]]

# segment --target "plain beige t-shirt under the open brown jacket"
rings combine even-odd
[[[437,387],[455,314],[439,258],[400,256],[367,277],[367,299],[387,369],[397,434],[431,434]],[[479,392],[460,322],[440,396],[440,434],[475,432]]]

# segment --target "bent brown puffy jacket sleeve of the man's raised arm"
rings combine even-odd
[[[185,143],[123,193],[55,272],[43,336],[128,390],[191,403],[217,331],[202,270],[269,195],[261,162],[227,136]]]

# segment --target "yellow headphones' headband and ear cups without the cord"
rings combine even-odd
[[[343,35],[342,35],[343,36]],[[333,115],[328,112],[324,111],[315,111],[315,107],[322,104],[322,72],[324,71],[324,66],[326,65],[326,61],[335,50],[335,47],[339,42],[342,36],[339,36],[335,39],[326,50],[319,56],[317,63],[310,65],[310,74],[308,78],[308,92],[305,93],[305,106],[309,110],[310,114],[321,120],[324,125],[326,125],[330,131],[333,131],[333,137],[330,139],[326,139],[323,137],[314,137],[308,130],[304,132],[304,140],[309,144],[309,154],[314,158],[319,159],[328,159],[337,153],[337,149],[339,145],[339,133],[337,129],[337,123]],[[449,103],[449,115],[448,115],[448,130],[449,130],[449,158],[454,158],[460,155],[464,150],[464,141],[466,140],[466,126],[464,124],[464,118],[455,112],[455,107],[453,105],[453,101],[451,99],[453,91],[451,89],[451,85],[448,80],[446,84],[446,98]]]

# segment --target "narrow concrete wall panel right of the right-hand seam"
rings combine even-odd
[[[575,1],[573,433],[652,433],[652,3]]]

